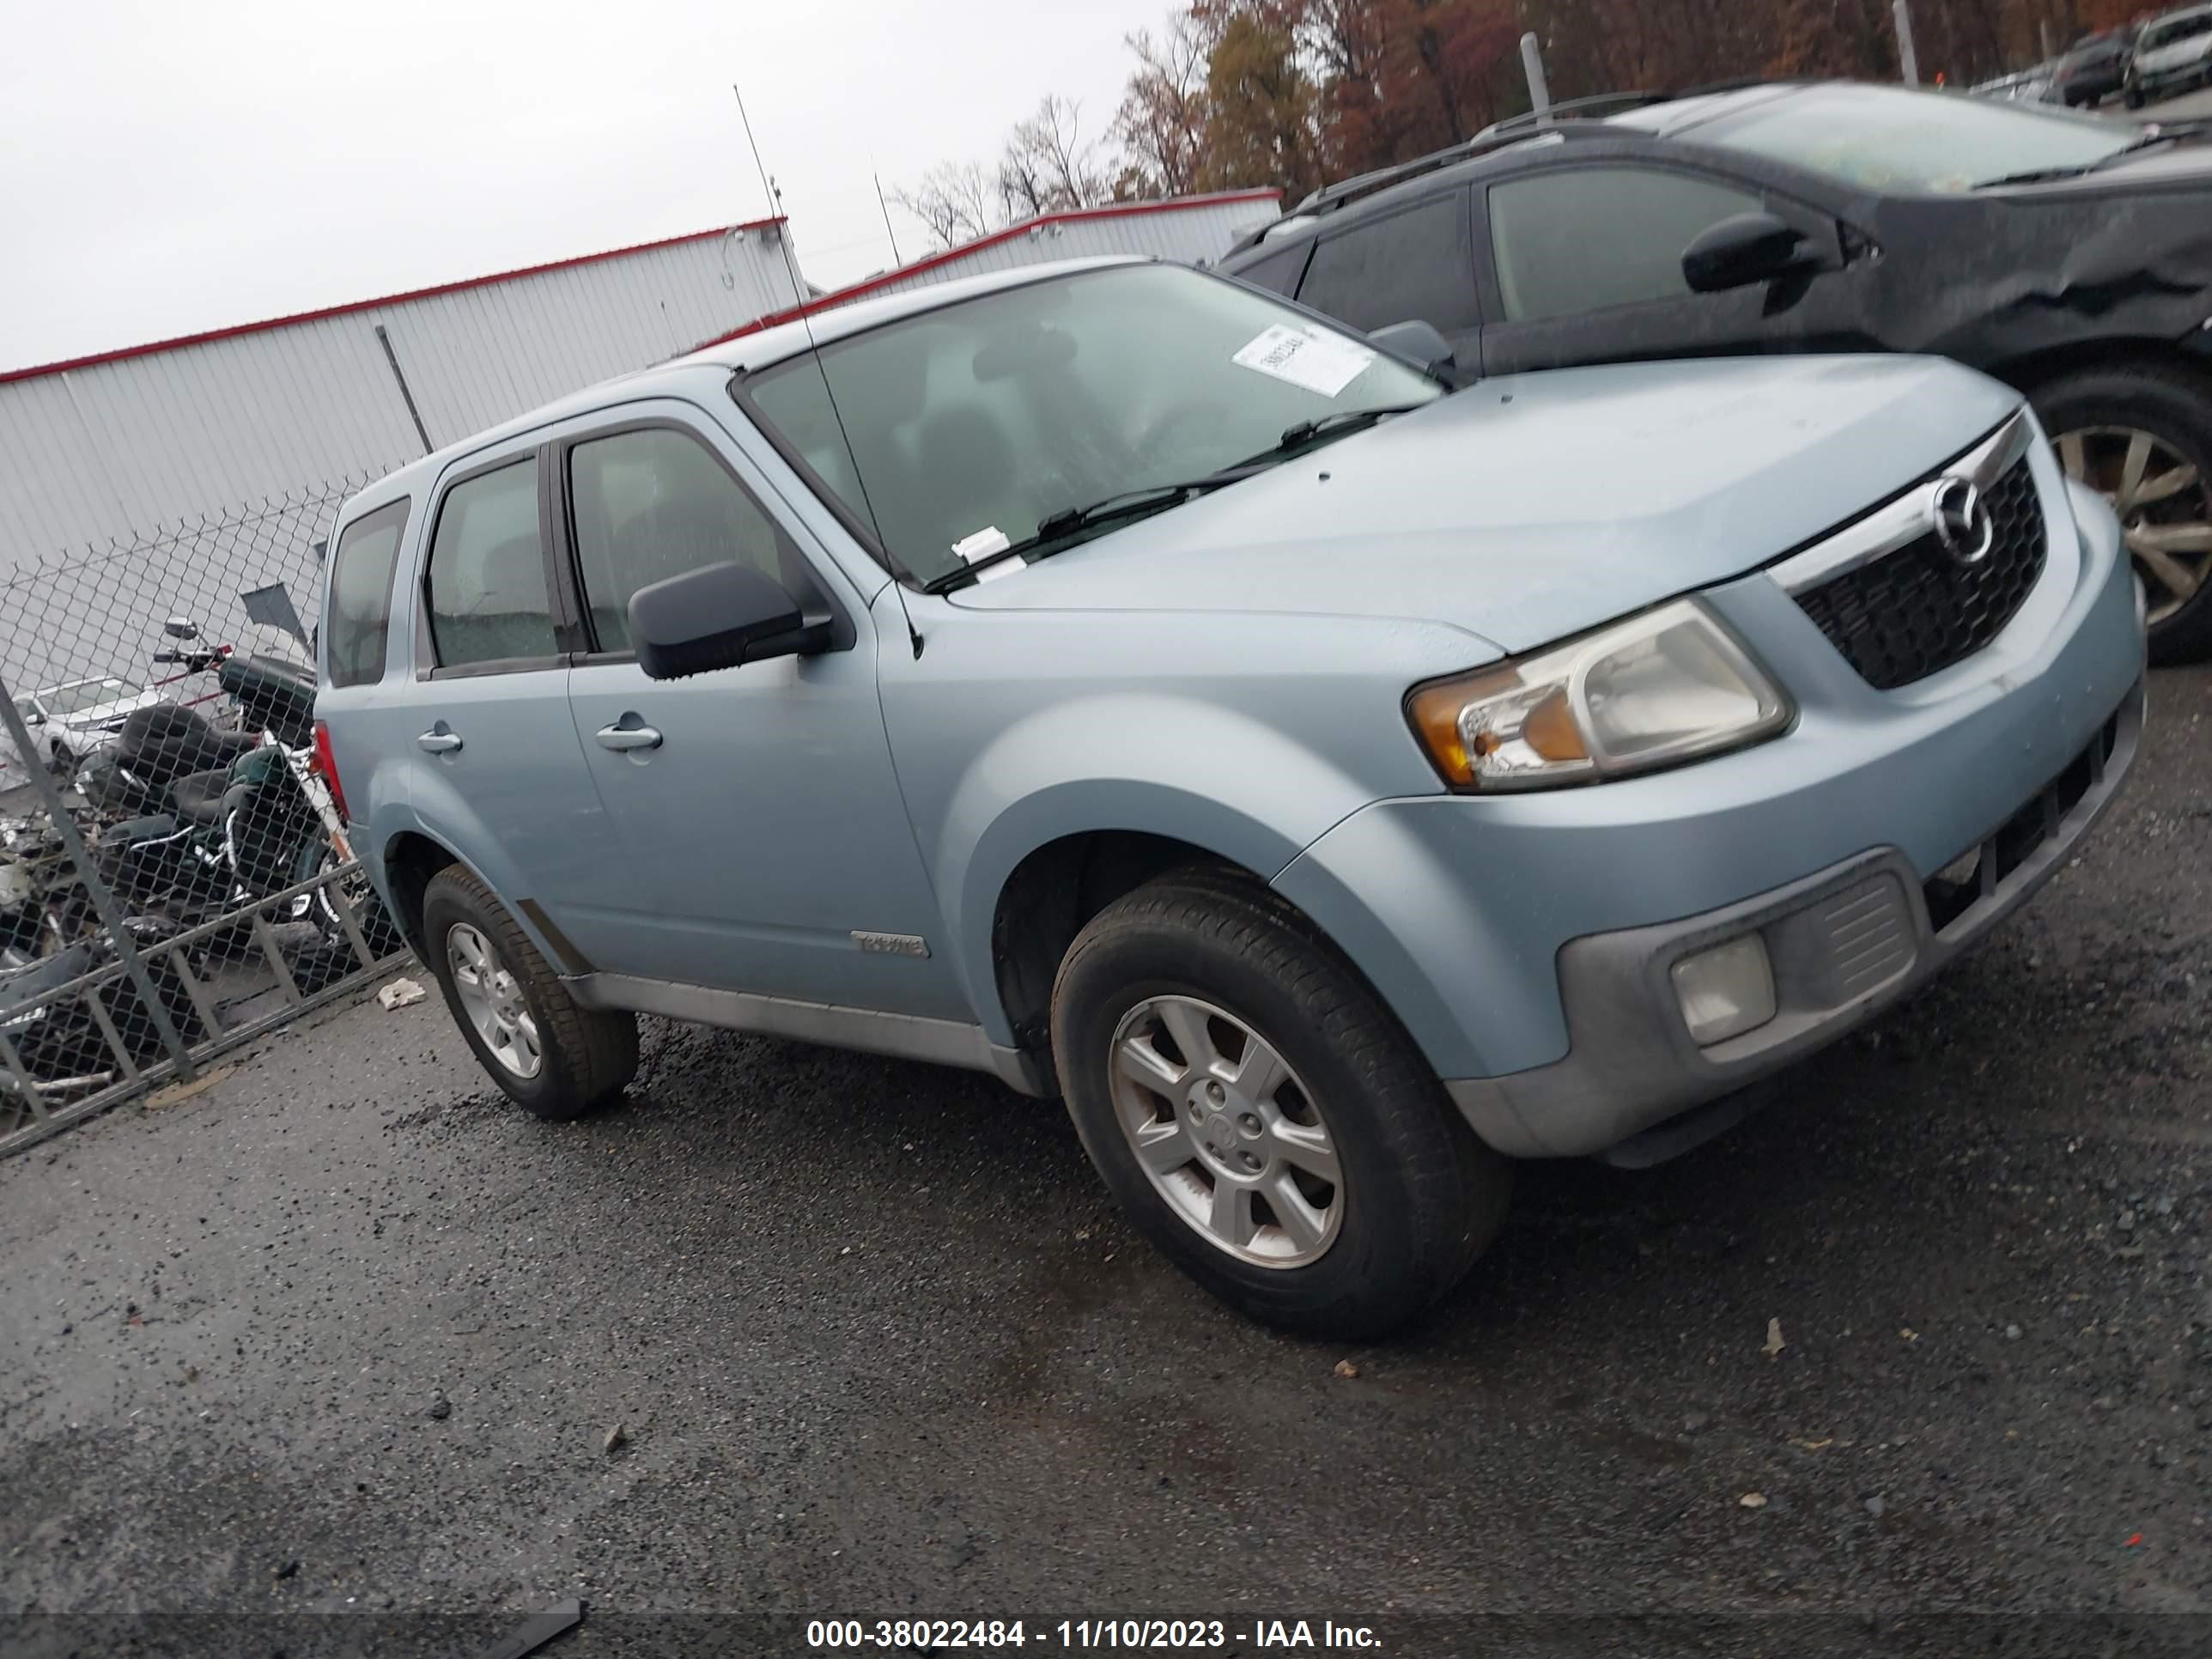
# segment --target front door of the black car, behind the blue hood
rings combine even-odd
[[[1723,219],[1772,212],[1820,263],[1801,281],[1694,294],[1690,243]],[[1827,212],[1750,179],[1659,161],[1557,161],[1475,201],[1486,374],[1672,356],[1869,349],[1865,270]]]

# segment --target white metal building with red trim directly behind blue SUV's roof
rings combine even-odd
[[[1166,201],[1117,201],[1106,208],[1046,212],[989,237],[947,248],[942,254],[916,259],[911,265],[867,276],[849,288],[832,290],[807,305],[774,316],[761,316],[745,327],[717,336],[739,338],[796,316],[849,305],[874,294],[896,294],[907,288],[947,283],[956,276],[980,276],[987,270],[1044,265],[1055,259],[1095,259],[1102,254],[1152,254],[1186,265],[1221,259],[1230,246],[1259,226],[1281,217],[1281,190],[1225,190],[1208,197],[1168,197]]]

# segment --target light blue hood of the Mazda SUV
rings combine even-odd
[[[1400,617],[1517,653],[1759,568],[2017,405],[1907,356],[1482,380],[953,602]]]

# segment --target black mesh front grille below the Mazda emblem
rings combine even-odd
[[[1982,500],[1997,535],[1980,564],[1960,564],[1929,533],[1796,595],[1827,641],[1876,690],[1911,686],[1978,653],[2004,630],[2044,573],[2044,509],[2026,456]]]

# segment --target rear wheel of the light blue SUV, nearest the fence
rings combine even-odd
[[[533,1117],[582,1117],[637,1075],[637,1018],[580,1009],[507,907],[451,865],[422,894],[422,942],[478,1064]]]

